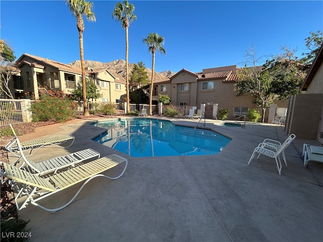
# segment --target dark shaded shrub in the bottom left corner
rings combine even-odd
[[[1,221],[1,241],[24,242],[29,241],[32,233],[25,229],[28,221],[16,219],[14,217],[7,218]],[[15,236],[11,236],[15,235]],[[19,236],[18,236],[19,235]]]

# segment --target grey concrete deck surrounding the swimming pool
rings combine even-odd
[[[160,118],[160,117],[157,117]],[[33,205],[19,211],[28,220],[31,241],[322,241],[323,164],[303,167],[303,143],[286,149],[288,166],[279,175],[275,159],[248,160],[265,138],[284,141],[284,127],[247,124],[205,128],[232,137],[217,155],[130,157],[91,140],[104,132],[91,126],[97,119],[77,119],[60,126],[36,129],[21,141],[70,134],[67,149],[42,148],[34,161],[92,148],[101,156],[119,154],[129,161],[121,178],[98,177],[76,200],[54,214]],[[197,120],[172,118],[175,124],[196,127]],[[203,128],[203,127],[202,127]],[[49,134],[50,133],[50,134]],[[15,158],[9,154],[10,162]],[[123,167],[104,172],[118,174]],[[60,206],[80,186],[53,195],[45,206]]]

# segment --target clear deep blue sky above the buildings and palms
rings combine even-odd
[[[92,2],[96,22],[84,18],[84,59],[125,59],[125,30],[112,19],[118,1]],[[142,39],[158,33],[167,54],[156,53],[157,72],[242,67],[250,47],[257,57],[282,53],[284,46],[298,48],[301,58],[307,52],[304,39],[323,30],[323,1],[129,2],[137,16],[129,27],[129,63],[151,69],[152,55]],[[63,0],[1,0],[0,7],[1,39],[17,58],[29,53],[65,64],[80,59],[76,19]]]

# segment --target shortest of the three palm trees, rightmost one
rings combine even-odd
[[[150,82],[150,92],[149,92],[149,115],[152,115],[151,100],[152,100],[152,88],[153,88],[153,75],[155,69],[155,52],[159,51],[161,54],[166,54],[166,50],[163,45],[165,39],[163,36],[159,36],[157,33],[149,33],[147,38],[142,40],[148,45],[149,53],[152,53],[152,68],[151,68],[151,82]]]

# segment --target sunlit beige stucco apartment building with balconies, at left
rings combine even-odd
[[[39,98],[39,90],[60,91],[71,94],[78,83],[82,84],[82,70],[67,64],[51,61],[47,58],[24,53],[13,65],[11,91],[15,98],[26,98],[34,95]],[[92,78],[100,93],[103,94],[99,100],[94,102],[119,102],[120,96],[126,93],[126,82],[117,74],[101,69],[86,68],[86,78]],[[91,100],[92,101],[92,100]]]

